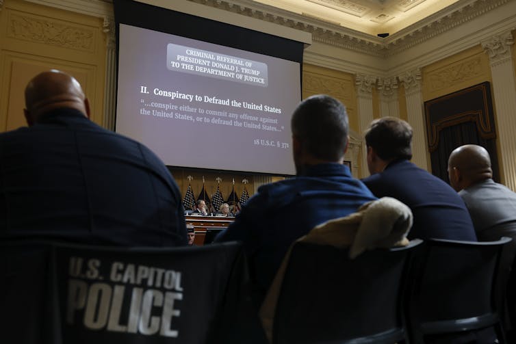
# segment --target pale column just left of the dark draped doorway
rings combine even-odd
[[[412,137],[412,162],[428,170],[426,129],[424,125],[423,95],[420,69],[410,70],[400,76],[407,100],[407,119],[414,131]]]

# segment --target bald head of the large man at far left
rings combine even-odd
[[[90,117],[90,106],[81,85],[59,70],[42,72],[29,81],[25,88],[25,107],[29,126],[38,122],[41,115],[60,108],[77,109]]]

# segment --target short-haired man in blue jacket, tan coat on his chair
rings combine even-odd
[[[336,99],[316,95],[302,101],[292,115],[296,176],[261,186],[216,238],[243,241],[257,306],[292,242],[376,199],[343,165],[348,126],[346,107]]]

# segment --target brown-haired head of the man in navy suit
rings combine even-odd
[[[378,118],[365,131],[365,144],[385,161],[412,159],[412,127],[396,117]]]

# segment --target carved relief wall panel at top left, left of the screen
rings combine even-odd
[[[65,22],[10,13],[7,36],[55,47],[92,52],[94,31]]]

